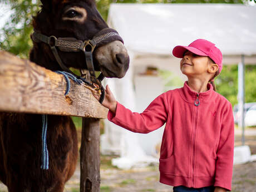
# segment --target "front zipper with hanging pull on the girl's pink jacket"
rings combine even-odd
[[[195,114],[195,121],[194,121],[194,133],[193,133],[193,159],[192,159],[192,177],[191,177],[191,185],[193,186],[195,184],[195,136],[196,136],[196,126],[197,126],[197,120],[198,120],[198,106],[200,105],[199,101],[199,93],[196,93],[196,100],[194,102],[194,105],[196,107],[196,114]]]

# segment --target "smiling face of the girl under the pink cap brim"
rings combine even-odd
[[[207,56],[195,55],[190,51],[184,53],[180,61],[180,71],[188,77],[202,77],[208,74],[210,59]]]

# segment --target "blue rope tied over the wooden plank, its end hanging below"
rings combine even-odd
[[[67,87],[65,91],[65,96],[70,92],[70,80],[75,81],[78,85],[82,83],[82,80],[78,79],[71,73],[65,72],[65,71],[55,71],[58,74],[61,74],[65,77]],[[68,78],[69,77],[69,78]],[[46,143],[46,134],[47,134],[47,115],[42,115],[42,121],[43,121],[43,126],[42,126],[42,165],[41,169],[49,169],[49,155],[48,155],[48,150],[47,150],[47,143]]]

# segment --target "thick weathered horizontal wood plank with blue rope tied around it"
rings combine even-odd
[[[106,118],[107,109],[86,87],[63,75],[0,51],[0,111]]]

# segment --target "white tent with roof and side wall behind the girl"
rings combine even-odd
[[[241,4],[111,4],[108,24],[124,39],[130,53],[130,69],[122,79],[107,79],[117,101],[141,112],[161,92],[157,76],[145,76],[147,66],[173,72],[182,81],[179,59],[171,55],[176,45],[204,38],[223,52],[223,63],[256,63],[256,7]],[[182,84],[183,85],[183,84]],[[180,86],[182,86],[180,85]],[[171,88],[175,88],[171,87]],[[150,134],[134,134],[105,121],[101,151],[120,154],[112,163],[120,168],[154,163],[163,128]]]

